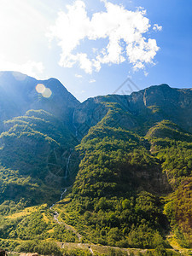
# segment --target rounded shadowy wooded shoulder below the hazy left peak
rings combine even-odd
[[[4,121],[4,127],[0,135],[4,167],[58,188],[69,182],[67,160],[75,145],[67,125],[44,110],[29,110],[24,116]]]

